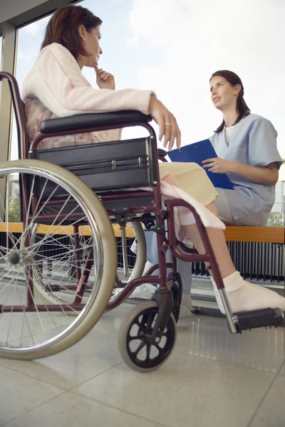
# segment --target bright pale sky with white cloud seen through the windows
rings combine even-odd
[[[155,90],[177,118],[182,145],[209,137],[222,122],[210,100],[209,78],[229,69],[242,78],[252,112],[276,127],[285,159],[284,1],[85,0],[81,5],[103,20],[100,66],[115,75],[118,89]],[[19,30],[20,88],[38,56],[48,19]],[[95,86],[94,71],[83,74]],[[123,134],[140,135],[145,131]],[[15,131],[12,146],[15,158]]]

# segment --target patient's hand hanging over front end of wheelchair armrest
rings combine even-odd
[[[177,125],[176,119],[174,115],[172,115],[172,113],[167,110],[165,105],[157,100],[155,96],[150,97],[148,112],[160,127],[159,138],[161,141],[162,137],[164,137],[163,147],[166,148],[168,144],[168,149],[171,150],[176,142],[177,148],[180,148],[181,132]]]

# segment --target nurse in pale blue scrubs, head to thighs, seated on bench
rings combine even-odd
[[[203,164],[215,174],[228,174],[234,186],[234,190],[217,188],[219,218],[226,225],[264,226],[274,205],[282,164],[277,132],[269,120],[251,114],[237,74],[219,70],[209,83],[212,102],[223,120],[209,138],[218,157],[205,159]]]

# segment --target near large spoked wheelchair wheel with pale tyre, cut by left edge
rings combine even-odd
[[[0,177],[0,356],[51,356],[84,337],[108,304],[117,267],[113,228],[93,191],[61,167],[37,160],[6,162],[0,164]],[[29,212],[26,218],[20,202]],[[70,285],[74,249],[71,253],[63,242],[73,231],[77,241],[84,236],[86,260],[77,256],[76,282]],[[48,285],[72,298],[46,305],[33,281],[51,260],[61,269]],[[77,317],[66,315],[72,310]]]

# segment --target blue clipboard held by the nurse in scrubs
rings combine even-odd
[[[214,147],[209,139],[185,145],[180,149],[172,149],[172,151],[167,152],[167,155],[172,162],[193,162],[199,164],[201,167],[203,167],[203,160],[217,157],[217,153],[214,151]],[[204,171],[207,172],[209,179],[215,187],[228,190],[234,189],[227,174],[214,174],[209,169],[204,169]]]

